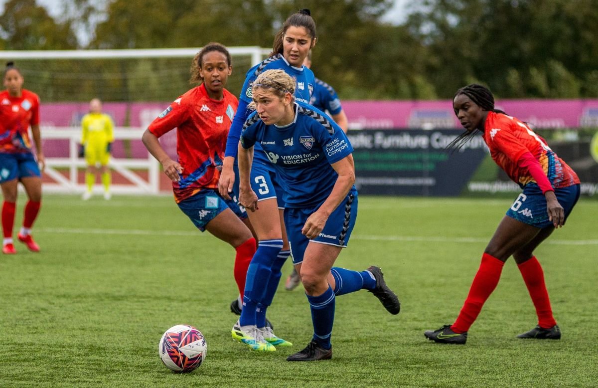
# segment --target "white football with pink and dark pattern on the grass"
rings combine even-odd
[[[191,372],[206,359],[208,346],[202,332],[189,325],[168,329],[158,344],[158,354],[166,368],[175,372]]]

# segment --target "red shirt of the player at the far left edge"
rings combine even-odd
[[[31,151],[29,126],[39,124],[39,97],[23,89],[20,97],[0,92],[0,152]]]

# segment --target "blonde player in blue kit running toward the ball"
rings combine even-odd
[[[401,304],[377,266],[361,272],[332,267],[357,216],[353,147],[326,114],[295,102],[294,92],[294,79],[282,70],[265,71],[254,81],[250,107],[256,111],[243,125],[239,147],[239,201],[257,210],[251,160],[252,154],[266,154],[286,188],[284,218],[293,263],[312,311],[312,341],[287,360],[326,360],[332,357],[336,295],[370,290],[392,314]],[[262,150],[254,151],[255,144]]]

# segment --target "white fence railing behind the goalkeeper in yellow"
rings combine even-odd
[[[115,140],[141,140],[144,129],[115,128]],[[80,181],[80,169],[86,168],[85,159],[78,157],[78,144],[81,140],[81,130],[67,128],[42,128],[42,140],[68,140],[68,156],[46,157],[44,174],[52,182],[44,181],[44,191],[53,193],[83,193],[86,189],[84,181]],[[160,192],[160,164],[149,153],[144,159],[118,159],[112,157],[109,166],[125,178],[125,183],[114,183],[111,186],[115,194],[158,194]],[[65,174],[65,170],[68,173]],[[147,179],[136,171],[147,174]],[[147,172],[146,172],[147,171]],[[99,184],[94,186],[94,192],[102,192]]]

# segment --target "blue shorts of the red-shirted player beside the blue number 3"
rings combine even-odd
[[[240,219],[247,218],[245,210],[239,208],[234,201],[222,198],[218,192],[212,189],[203,189],[196,195],[179,202],[179,209],[197,226],[197,229],[204,232],[206,225],[218,214],[230,209]]]

